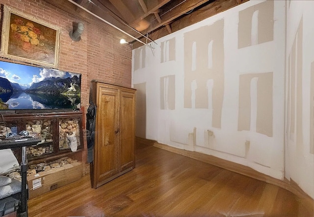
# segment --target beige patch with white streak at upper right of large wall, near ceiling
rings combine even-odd
[[[239,11],[238,48],[271,42],[274,39],[274,1]]]

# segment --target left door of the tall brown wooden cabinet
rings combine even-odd
[[[94,147],[94,187],[119,173],[119,90],[98,86]]]

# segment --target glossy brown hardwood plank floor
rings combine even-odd
[[[136,168],[91,189],[89,176],[28,201],[28,217],[313,217],[292,193],[139,144]]]

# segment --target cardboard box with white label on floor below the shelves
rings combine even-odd
[[[27,185],[29,199],[64,186],[66,185],[65,168],[53,168],[50,171],[27,176]]]

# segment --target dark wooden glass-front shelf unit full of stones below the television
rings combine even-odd
[[[2,138],[7,131],[18,134],[22,130],[42,138],[42,143],[27,147],[28,162],[46,162],[67,155],[75,155],[79,158],[78,160],[81,160],[83,150],[81,111],[19,110],[16,112],[0,111],[0,113],[4,119],[0,123]],[[73,142],[69,142],[68,137],[70,136],[73,137]],[[77,145],[77,151],[72,152],[69,145]],[[20,149],[12,149],[12,151],[18,161],[21,161]]]

